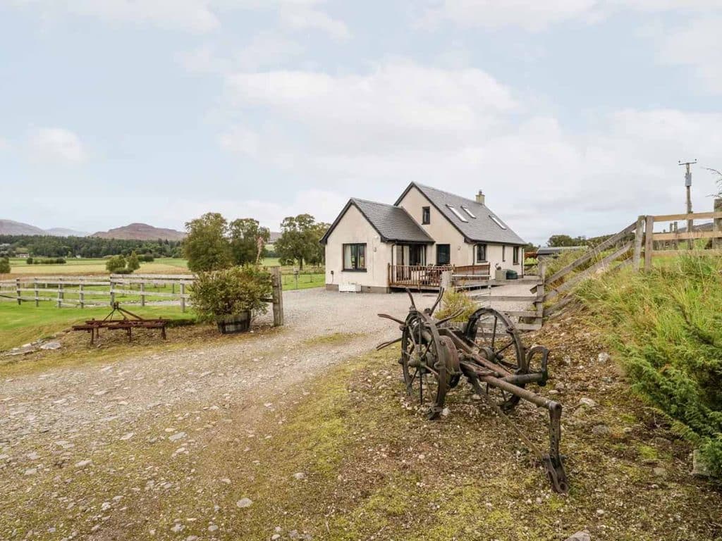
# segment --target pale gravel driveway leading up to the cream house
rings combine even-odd
[[[414,294],[414,299],[417,307],[424,308],[435,295]],[[377,314],[404,317],[409,299],[401,293],[355,295],[307,289],[284,293],[284,308],[286,325],[276,330],[160,353],[133,353],[131,348],[125,358],[113,361],[2,377],[0,540],[26,531],[27,519],[15,512],[18,501],[34,509],[30,524],[39,522],[45,532],[57,528],[60,534],[58,524],[62,524],[64,539],[74,537],[67,535],[71,532],[88,532],[91,526],[90,532],[100,529],[109,517],[105,511],[115,505],[103,500],[107,495],[90,491],[81,497],[62,496],[61,491],[56,499],[47,496],[48,491],[58,494],[65,483],[75,483],[79,472],[93,475],[98,462],[110,465],[104,470],[110,478],[116,467],[126,471],[126,480],[113,488],[117,501],[134,501],[139,485],[157,476],[193,475],[192,465],[179,471],[179,462],[174,466],[173,461],[152,472],[141,464],[118,464],[113,459],[118,444],[133,444],[142,452],[180,445],[169,459],[189,452],[193,456],[201,452],[202,437],[192,434],[214,430],[219,416],[239,408],[248,437],[256,433],[261,437],[264,412],[271,408],[282,415],[285,405],[308,395],[304,382],[324,367],[356,359],[376,344],[398,337],[398,326]],[[269,320],[266,315],[260,322]],[[206,421],[211,418],[215,420]],[[145,490],[165,490],[161,487],[167,485],[151,484]],[[60,538],[35,533],[40,538]]]

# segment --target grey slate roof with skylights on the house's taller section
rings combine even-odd
[[[441,214],[446,216],[448,221],[451,221],[456,229],[464,235],[467,242],[498,242],[510,245],[526,245],[526,242],[521,239],[518,234],[513,232],[505,221],[494,214],[489,207],[482,205],[482,203],[477,203],[477,201],[473,199],[466,199],[458,195],[454,195],[453,193],[438,190],[437,188],[431,188],[430,186],[425,186],[419,184],[418,182],[412,182],[394,204],[398,205],[401,203],[404,195],[406,195],[406,193],[408,193],[414,186],[426,196],[426,198]],[[447,205],[451,205],[456,208],[456,210],[464,216],[466,221],[461,221],[461,219],[459,219]],[[469,211],[471,211],[471,214],[474,214],[476,218],[468,216],[461,208],[462,206],[468,208]],[[495,219],[506,227],[506,229],[502,229],[498,226],[491,216],[494,216]]]

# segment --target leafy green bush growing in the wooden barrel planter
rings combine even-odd
[[[201,321],[268,310],[271,277],[257,265],[243,265],[219,271],[201,271],[190,289],[191,303]]]

